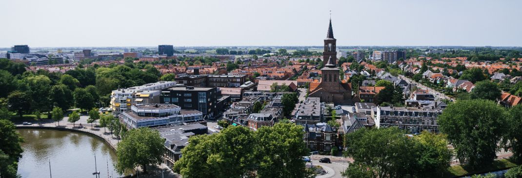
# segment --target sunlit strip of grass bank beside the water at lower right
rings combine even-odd
[[[470,167],[468,167],[467,165],[464,165],[464,166],[453,165],[452,167],[449,167],[447,169],[447,172],[444,173],[444,177],[448,177],[448,178],[458,177],[458,176],[464,176],[464,175],[470,175],[470,174],[477,174],[477,173],[513,168],[516,166],[517,166],[517,164],[509,161],[508,159],[495,160],[493,162],[493,164],[491,164],[489,167],[483,168],[480,170],[473,170]]]

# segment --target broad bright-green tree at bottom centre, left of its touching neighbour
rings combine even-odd
[[[219,134],[190,137],[173,170],[186,178],[245,177],[255,167],[255,150],[253,130],[229,126]]]

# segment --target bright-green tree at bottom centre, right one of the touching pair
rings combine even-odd
[[[302,159],[310,154],[303,135],[303,127],[292,123],[259,128],[254,149],[258,177],[311,177]]]

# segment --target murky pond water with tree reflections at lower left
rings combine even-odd
[[[114,169],[116,153],[100,138],[87,134],[50,130],[17,129],[25,140],[18,173],[22,177],[94,177],[94,155],[99,177],[120,177]]]

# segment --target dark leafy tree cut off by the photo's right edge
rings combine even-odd
[[[518,104],[508,111],[506,138],[503,141],[506,149],[513,152],[513,160],[522,163],[522,105]]]

